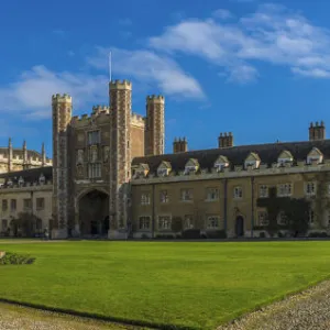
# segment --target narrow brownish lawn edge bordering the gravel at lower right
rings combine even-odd
[[[317,279],[317,280],[314,280],[314,282],[309,282],[307,284],[307,286],[304,286],[299,289],[296,289],[296,290],[292,290],[292,292],[288,292],[286,294],[282,294],[282,295],[278,295],[278,296],[275,296],[274,298],[271,298],[264,302],[261,302],[261,304],[257,304],[256,306],[252,307],[252,308],[246,308],[246,309],[242,309],[240,311],[237,311],[234,314],[234,316],[231,316],[231,317],[224,317],[220,323],[217,326],[216,329],[218,329],[219,327],[223,327],[226,324],[231,324],[233,323],[234,321],[240,321],[241,319],[248,317],[249,315],[253,314],[253,312],[256,312],[256,311],[263,311],[263,309],[272,306],[273,304],[275,302],[279,302],[279,301],[284,301],[293,296],[299,296],[301,294],[304,294],[305,292],[318,286],[319,284],[323,283],[323,282],[327,282],[327,280],[330,280],[330,274],[320,278],[320,279]]]

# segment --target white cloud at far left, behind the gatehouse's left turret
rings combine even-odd
[[[30,118],[51,116],[53,94],[70,94],[75,106],[97,101],[107,95],[105,76],[54,73],[44,66],[34,66],[19,77],[16,82],[0,86],[1,110],[19,111]]]

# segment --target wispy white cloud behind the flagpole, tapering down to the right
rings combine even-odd
[[[88,58],[88,64],[98,69],[108,69],[110,48],[98,48],[97,55]],[[156,85],[166,95],[187,98],[204,97],[198,81],[186,74],[176,62],[151,51],[125,51],[111,48],[112,69],[120,77]]]

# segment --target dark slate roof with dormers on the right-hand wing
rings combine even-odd
[[[135,157],[132,162],[132,165],[145,163],[148,164],[151,173],[155,173],[158,165],[165,161],[172,164],[173,170],[184,170],[189,158],[196,158],[198,160],[201,168],[212,168],[217,158],[220,155],[223,155],[228,157],[230,166],[233,168],[234,165],[243,165],[245,158],[251,152],[256,153],[260,156],[262,164],[272,165],[273,163],[277,162],[279,154],[285,150],[293,154],[294,163],[296,163],[297,161],[306,160],[312,147],[319,148],[324,158],[330,158],[330,140],[322,140],[239,145],[158,156]]]

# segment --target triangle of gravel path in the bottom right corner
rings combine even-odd
[[[330,280],[270,305],[217,330],[328,330]]]

